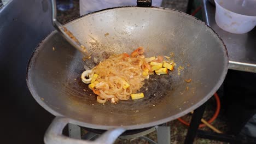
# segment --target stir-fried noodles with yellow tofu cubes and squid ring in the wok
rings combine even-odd
[[[91,70],[85,70],[81,79],[97,95],[98,103],[118,103],[119,100],[140,99],[143,93],[137,93],[144,80],[152,74],[168,74],[174,63],[164,61],[170,57],[153,56],[146,58],[144,48],[138,47],[128,55],[112,55]]]

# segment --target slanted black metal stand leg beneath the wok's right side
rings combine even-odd
[[[206,104],[203,104],[194,111],[189,129],[188,129],[188,133],[184,142],[185,144],[193,143],[196,137],[197,129],[199,128],[199,124],[201,123],[203,112],[205,111],[205,106]]]

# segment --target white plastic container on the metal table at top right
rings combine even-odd
[[[256,0],[214,0],[217,25],[230,33],[247,33],[256,26]]]

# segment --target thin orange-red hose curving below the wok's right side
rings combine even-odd
[[[220,110],[219,95],[217,93],[214,93],[214,98],[216,99],[217,107],[216,107],[216,111],[215,111],[214,115],[212,116],[212,118],[209,121],[207,121],[208,123],[212,123],[217,118],[217,116],[219,115],[219,110]],[[185,122],[183,119],[178,118],[178,120],[179,120],[179,122],[189,126],[189,123]],[[205,127],[205,126],[206,126],[205,124],[200,124],[199,128],[202,128],[202,127]]]

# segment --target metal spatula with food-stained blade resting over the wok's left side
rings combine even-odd
[[[66,27],[63,27],[59,21],[57,21],[57,8],[56,0],[51,0],[52,10],[53,10],[53,26],[59,31],[63,38],[65,38],[69,44],[71,44],[75,49],[82,52],[85,57],[90,57],[89,52],[86,48],[79,42],[79,40],[70,32]]]

